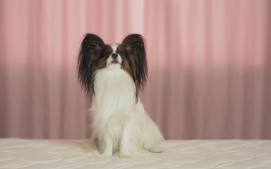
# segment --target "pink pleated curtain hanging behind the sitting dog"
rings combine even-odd
[[[268,0],[0,0],[0,137],[90,137],[76,62],[87,32],[140,33],[140,98],[166,139],[271,139]]]

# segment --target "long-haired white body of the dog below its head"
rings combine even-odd
[[[121,157],[130,157],[143,149],[162,152],[162,134],[139,98],[136,103],[135,83],[120,65],[109,64],[97,70],[94,92],[92,138],[97,141],[100,156],[109,157],[120,151]]]

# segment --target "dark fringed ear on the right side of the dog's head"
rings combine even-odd
[[[143,91],[147,82],[147,58],[145,40],[141,35],[128,35],[121,44],[128,53],[128,63],[135,80],[136,91]]]

